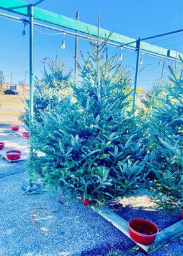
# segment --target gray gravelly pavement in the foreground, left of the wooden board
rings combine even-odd
[[[51,193],[21,195],[25,182],[22,173],[0,180],[0,255],[82,255],[121,241],[124,249],[133,246],[130,239],[81,202],[71,202],[68,207]],[[35,218],[39,221],[32,220],[33,214],[38,214]],[[43,232],[41,227],[49,231]]]

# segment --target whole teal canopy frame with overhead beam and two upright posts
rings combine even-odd
[[[68,33],[69,35],[75,35],[82,38],[87,38],[87,33],[90,33],[92,37],[100,36],[102,40],[110,35],[110,31],[106,29],[99,29],[98,35],[98,27],[92,26],[85,22],[81,22],[80,20],[71,19],[65,17],[63,15],[59,15],[57,13],[49,12],[47,10],[43,10],[38,8],[38,4],[43,2],[43,0],[37,1],[35,4],[27,4],[24,1],[20,0],[0,0],[0,8],[6,10],[8,12],[17,13],[18,15],[23,15],[29,17],[29,20],[21,19],[19,17],[14,17],[11,15],[7,15],[6,13],[0,13],[1,16],[10,17],[10,19],[17,19],[21,22],[27,22],[29,24],[29,87],[30,87],[30,146],[31,146],[31,138],[33,137],[33,120],[34,120],[34,25],[41,26],[43,28],[52,29],[55,31],[61,31]],[[42,22],[46,22],[48,24],[53,24],[55,26],[63,27],[70,29],[69,31],[65,31],[64,29],[60,29],[57,27],[53,27],[47,24],[43,24],[40,22],[35,22],[34,19],[41,20]],[[77,31],[77,32],[72,32]],[[143,42],[144,40],[148,40],[151,38],[156,38],[159,36],[170,35],[172,33],[179,33],[183,31],[183,29],[179,29],[177,31],[171,31],[168,33],[164,33],[161,35],[150,36],[148,38],[138,38],[138,40],[134,38],[130,38],[128,36],[120,35],[118,33],[112,33],[110,36],[110,40],[108,45],[114,45],[117,47],[123,47],[124,49],[128,49],[130,51],[137,52],[136,58],[136,70],[135,70],[135,85],[134,85],[134,93],[133,93],[133,111],[135,111],[135,102],[136,102],[136,86],[138,83],[138,66],[140,59],[140,52],[150,55],[156,56],[158,58],[164,58],[172,61],[180,61],[179,56],[183,58],[183,54],[180,52],[173,51],[171,49],[165,49],[163,47],[159,47],[153,44],[148,44]],[[32,151],[31,147],[31,151]]]

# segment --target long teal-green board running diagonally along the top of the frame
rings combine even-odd
[[[0,8],[7,10],[9,12],[18,13],[20,15],[29,16],[28,4],[21,0],[0,0]],[[49,12],[38,8],[34,8],[34,18],[41,20],[43,22],[48,22],[57,26],[62,26],[64,28],[72,29],[74,31],[80,31],[82,33],[91,33],[92,36],[98,36],[98,27],[92,26],[80,20],[71,19],[57,13]],[[110,34],[110,31],[101,28],[99,30],[99,35],[102,38],[106,38]],[[110,40],[117,42],[119,44],[130,45],[136,47],[136,39],[129,36],[120,35],[119,33],[112,33]],[[152,45],[146,42],[141,43],[141,48],[145,51],[154,52],[156,54],[161,54],[162,56],[172,56],[175,58],[175,53],[172,50],[159,47],[157,45]],[[177,52],[179,58],[180,52]],[[183,57],[183,54],[181,54]]]

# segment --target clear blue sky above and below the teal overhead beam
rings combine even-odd
[[[26,2],[33,3],[32,1]],[[71,18],[75,18],[76,12],[79,11],[80,20],[94,25],[97,25],[98,10],[101,10],[102,28],[133,38],[157,35],[183,27],[182,0],[45,0],[40,7]],[[4,10],[0,10],[0,12],[4,12]],[[11,73],[13,73],[13,83],[18,83],[18,81],[24,80],[29,67],[28,26],[25,38],[22,37],[23,25],[18,22],[0,17],[0,26],[0,70],[3,70],[6,81],[10,81]],[[47,29],[40,28],[40,30],[46,33],[55,33]],[[40,31],[35,31],[34,68],[37,76],[41,76],[43,68],[41,60],[45,57],[54,58],[57,51],[60,60],[66,62],[66,68],[73,68],[75,38],[66,35],[65,39],[66,49],[63,51],[61,50],[62,35],[45,35]],[[154,38],[148,42],[166,49],[183,52],[183,33]],[[89,44],[85,40],[79,40],[79,46],[83,52],[90,51]],[[120,52],[117,47],[110,47],[111,54],[117,52]],[[123,50],[122,62],[124,65],[135,67],[135,60],[135,52]],[[151,65],[140,72],[138,87],[147,88],[161,76],[163,63],[161,65],[158,63],[159,59],[157,58],[143,56],[143,65]],[[127,68],[133,73],[133,68]]]

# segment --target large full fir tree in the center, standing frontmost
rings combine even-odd
[[[73,96],[48,106],[35,123],[29,173],[75,198],[108,202],[142,186],[149,155],[130,111],[129,73],[116,56],[106,58],[106,42],[90,43]]]

